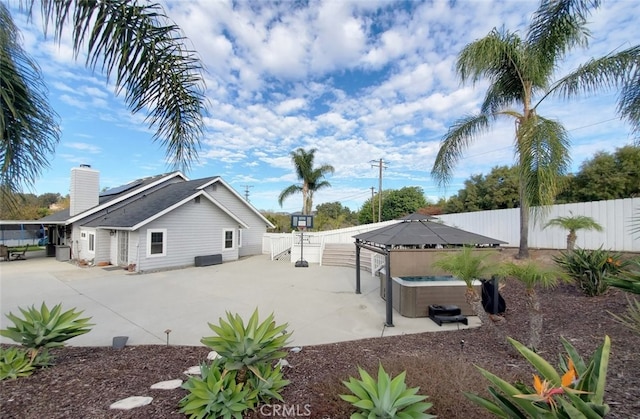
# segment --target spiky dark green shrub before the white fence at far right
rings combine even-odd
[[[608,278],[616,277],[627,265],[620,259],[619,253],[602,248],[575,249],[562,252],[553,259],[590,297],[605,293],[609,288]]]

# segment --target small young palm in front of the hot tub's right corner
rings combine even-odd
[[[491,324],[492,322],[489,321],[489,316],[482,307],[480,296],[473,288],[473,281],[488,278],[497,270],[496,265],[487,260],[490,256],[490,252],[474,252],[472,247],[465,246],[460,251],[447,253],[433,262],[434,267],[464,281],[466,284],[465,300],[482,324]]]

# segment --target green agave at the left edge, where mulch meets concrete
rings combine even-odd
[[[26,310],[20,308],[20,311],[24,319],[10,312],[6,316],[14,326],[0,330],[0,335],[31,349],[32,357],[41,348],[63,346],[67,340],[88,333],[93,326],[89,323],[90,317],[78,318],[82,311],[71,309],[63,312],[62,304],[49,310],[43,302],[39,310],[31,306]]]

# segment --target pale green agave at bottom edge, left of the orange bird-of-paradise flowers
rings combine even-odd
[[[351,403],[358,412],[351,419],[418,419],[435,416],[424,413],[432,404],[425,403],[426,396],[417,395],[418,387],[407,388],[406,371],[391,379],[382,364],[378,367],[378,378],[373,379],[364,369],[358,367],[361,380],[349,377],[343,384],[353,394],[341,394],[340,397]]]

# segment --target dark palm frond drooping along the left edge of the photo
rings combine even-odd
[[[38,65],[22,49],[9,10],[0,3],[0,198],[30,187],[60,140],[56,113]]]

